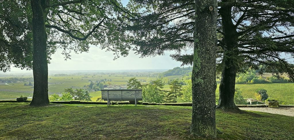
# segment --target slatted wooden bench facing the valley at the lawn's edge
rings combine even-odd
[[[107,100],[107,106],[110,105],[110,101],[142,101],[142,90],[101,90],[103,100]]]

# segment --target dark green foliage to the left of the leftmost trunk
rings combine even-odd
[[[29,1],[0,2],[0,71],[32,68],[32,32],[29,28]]]

